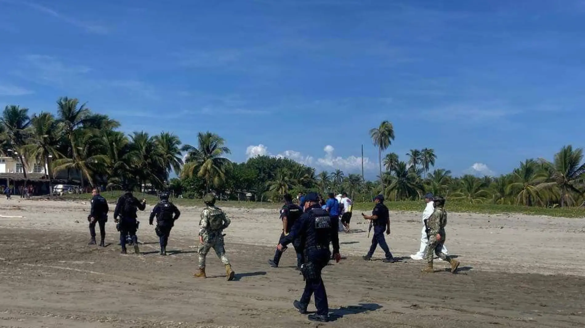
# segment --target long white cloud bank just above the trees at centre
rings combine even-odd
[[[332,145],[326,145],[323,148],[325,155],[322,158],[317,158],[316,160],[309,155],[303,155],[301,152],[297,151],[284,151],[278,153],[277,155],[272,155],[266,146],[263,144],[259,145],[250,145],[246,148],[246,158],[250,159],[256,156],[273,156],[276,158],[288,158],[292,159],[295,162],[312,166],[318,169],[324,170],[335,170],[340,169],[346,172],[360,172],[362,170],[362,157],[361,156],[347,156],[343,158],[342,156],[334,156],[333,152],[335,148]],[[376,168],[376,164],[372,162],[369,158],[364,157],[364,170],[370,170]]]

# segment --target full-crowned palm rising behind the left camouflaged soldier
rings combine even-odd
[[[187,152],[182,174],[192,176],[197,172],[197,176],[205,179],[206,189],[210,190],[212,185],[218,187],[225,180],[225,169],[230,161],[223,155],[231,152],[224,146],[222,137],[209,131],[199,132],[197,141],[197,148],[191,145],[181,148],[181,151]]]

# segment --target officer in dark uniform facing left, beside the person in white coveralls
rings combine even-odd
[[[376,206],[374,206],[371,215],[362,213],[362,217],[366,220],[371,220],[371,224],[374,226],[374,236],[371,238],[370,250],[363,259],[366,261],[371,260],[371,256],[374,254],[374,250],[376,250],[376,246],[379,244],[381,249],[384,250],[384,253],[386,253],[386,259],[384,259],[384,262],[393,263],[394,257],[392,256],[392,253],[390,253],[390,249],[384,238],[384,230],[386,230],[386,235],[390,235],[390,211],[388,211],[388,208],[384,205],[384,196],[378,195],[374,197],[374,203],[376,203]]]

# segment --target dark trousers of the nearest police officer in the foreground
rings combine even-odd
[[[315,247],[308,247],[305,250],[305,264],[311,263],[315,268],[316,278],[307,278],[305,276],[305,290],[302,292],[300,299],[301,304],[308,305],[311,302],[311,296],[315,295],[315,308],[317,308],[317,315],[328,315],[329,303],[327,301],[327,292],[325,291],[325,284],[321,278],[321,270],[329,262],[331,252],[329,249],[317,249]]]

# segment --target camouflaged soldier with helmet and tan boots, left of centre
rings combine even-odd
[[[219,259],[225,265],[225,273],[228,280],[233,280],[235,273],[225,256],[223,248],[223,229],[228,228],[231,223],[221,208],[215,206],[215,195],[206,194],[203,197],[205,208],[201,211],[199,221],[199,272],[193,275],[198,278],[205,278],[205,257],[209,249],[213,248]]]

